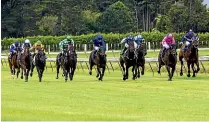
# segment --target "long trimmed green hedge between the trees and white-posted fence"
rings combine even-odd
[[[124,37],[127,37],[128,35],[137,35],[138,33],[126,33],[126,34],[118,34],[118,33],[103,33],[103,37],[106,41],[106,43],[119,43],[120,40],[122,40]],[[153,42],[157,41],[160,42],[163,37],[166,35],[165,33],[161,32],[142,32],[142,36],[145,38],[147,42]],[[175,39],[177,41],[180,41],[184,33],[174,33]],[[207,44],[209,44],[209,33],[200,33],[198,34],[200,41],[207,41]],[[88,34],[88,35],[79,35],[79,36],[72,36],[76,44],[88,44],[92,43],[92,38],[94,38],[96,34]],[[31,37],[25,37],[25,38],[4,38],[1,40],[2,46],[9,46],[12,44],[15,40],[19,40],[20,42],[23,42],[25,39],[29,39],[31,43],[33,44],[37,40],[40,40],[44,45],[53,45],[58,44],[61,40],[65,38],[65,36],[31,36]]]

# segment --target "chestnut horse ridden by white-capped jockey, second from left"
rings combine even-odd
[[[28,82],[28,75],[32,66],[32,60],[30,57],[30,51],[29,47],[26,46],[24,49],[24,52],[21,57],[21,68],[22,68],[22,73],[21,73],[21,78],[23,78],[23,71],[25,75],[25,82]]]

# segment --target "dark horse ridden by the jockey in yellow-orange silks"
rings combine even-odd
[[[38,49],[38,53],[34,56],[35,56],[35,62],[34,62],[34,64],[32,63],[30,76],[32,77],[33,69],[36,66],[38,77],[39,77],[39,82],[41,82],[43,72],[44,72],[44,69],[46,66],[46,56],[45,56],[44,51],[42,49]]]

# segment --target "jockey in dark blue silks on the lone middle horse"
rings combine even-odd
[[[94,43],[94,56],[96,55],[96,52],[99,50],[99,47],[105,48],[105,40],[102,35],[97,35],[94,39],[92,39]],[[105,48],[106,51],[106,48]]]

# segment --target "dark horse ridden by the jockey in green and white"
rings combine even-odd
[[[73,45],[69,45],[68,51],[64,51],[63,73],[65,76],[65,82],[68,80],[68,74],[70,80],[73,80],[76,64],[77,64],[77,56],[74,52],[74,47]]]

